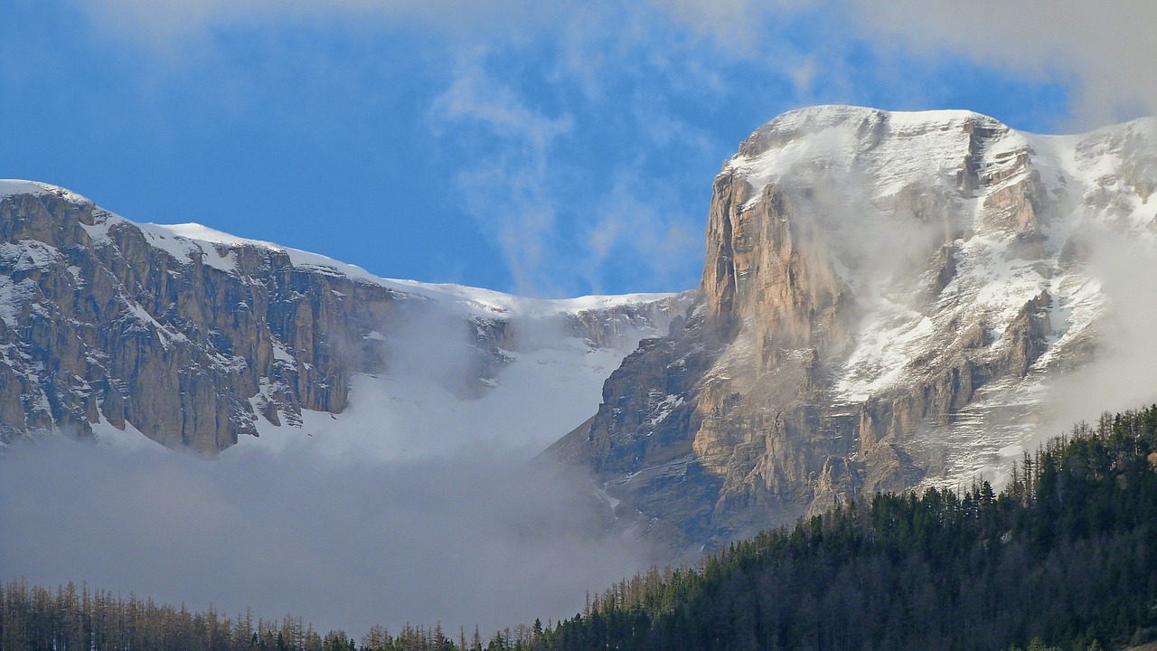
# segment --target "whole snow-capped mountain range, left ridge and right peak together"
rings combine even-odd
[[[590,469],[622,528],[714,546],[998,473],[1148,314],[1128,305],[1145,268],[1122,284],[1106,259],[1157,251],[1155,189],[1151,118],[1037,136],[815,107],[724,163],[697,292],[551,301],[0,182],[0,445],[557,441],[546,456]]]

